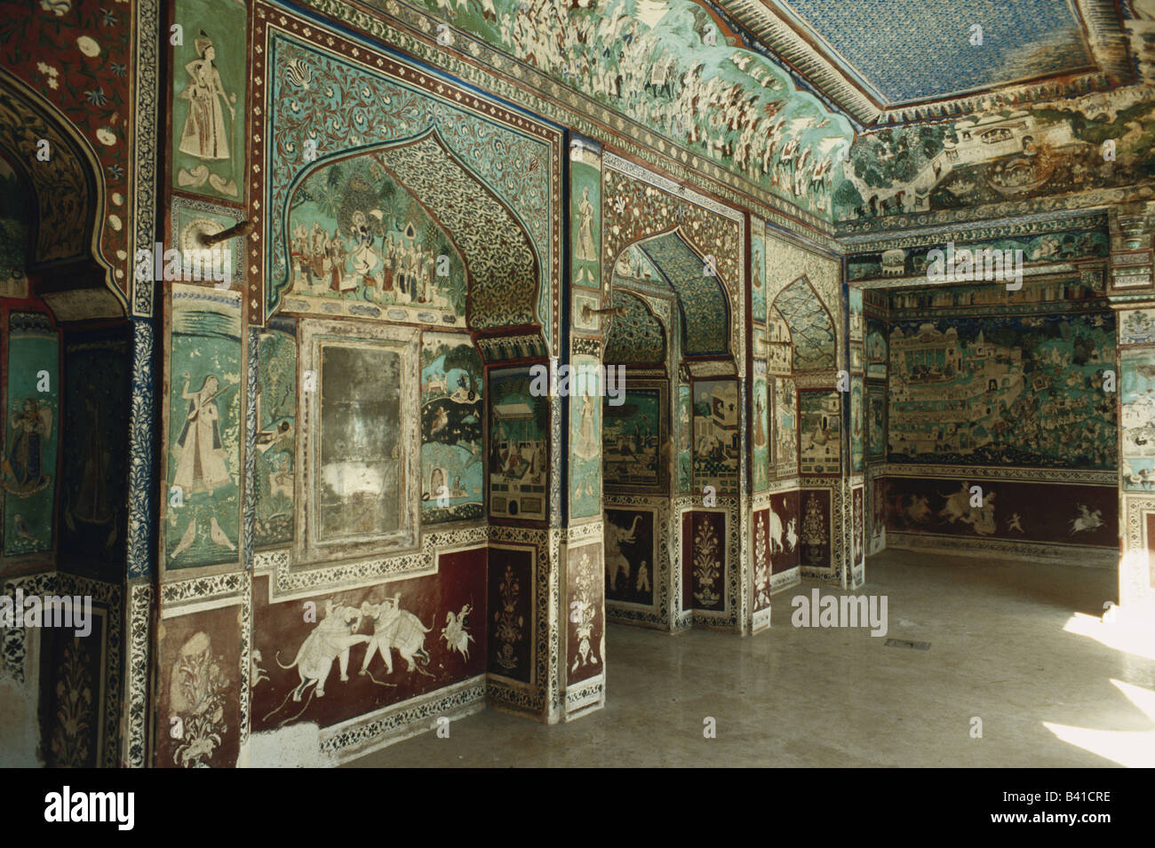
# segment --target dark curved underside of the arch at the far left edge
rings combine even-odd
[[[46,142],[46,144],[45,144]],[[0,68],[0,149],[28,186],[28,270],[61,321],[120,317],[127,297],[100,250],[105,186],[88,141],[24,82]]]

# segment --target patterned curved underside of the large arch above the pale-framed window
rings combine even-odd
[[[379,144],[319,159],[293,180],[281,216],[280,239],[289,253],[291,211],[301,187],[320,168],[368,158],[416,201],[463,260],[468,298],[467,324],[475,330],[539,324],[537,293],[541,260],[517,217],[485,182],[457,157],[435,128],[400,143]],[[359,205],[367,207],[366,197]],[[380,209],[359,209],[378,218]],[[382,216],[383,217],[383,216]],[[336,224],[334,217],[334,224]],[[270,280],[269,310],[281,302],[291,283],[286,265]]]

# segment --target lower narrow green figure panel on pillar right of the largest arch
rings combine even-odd
[[[573,358],[578,374],[584,377],[579,391],[569,396],[569,517],[589,518],[602,512],[602,362],[597,357]],[[573,388],[573,387],[572,387]]]

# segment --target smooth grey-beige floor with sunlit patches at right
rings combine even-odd
[[[854,594],[887,595],[887,636],[929,650],[793,628],[807,581],[745,639],[611,625],[606,707],[574,722],[485,711],[350,765],[1155,765],[1153,645],[1098,621],[1113,571],[893,550],[866,575]]]

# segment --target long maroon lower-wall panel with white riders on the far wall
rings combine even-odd
[[[981,485],[982,506],[970,487]],[[1113,486],[891,478],[887,530],[1021,542],[1118,545]]]

